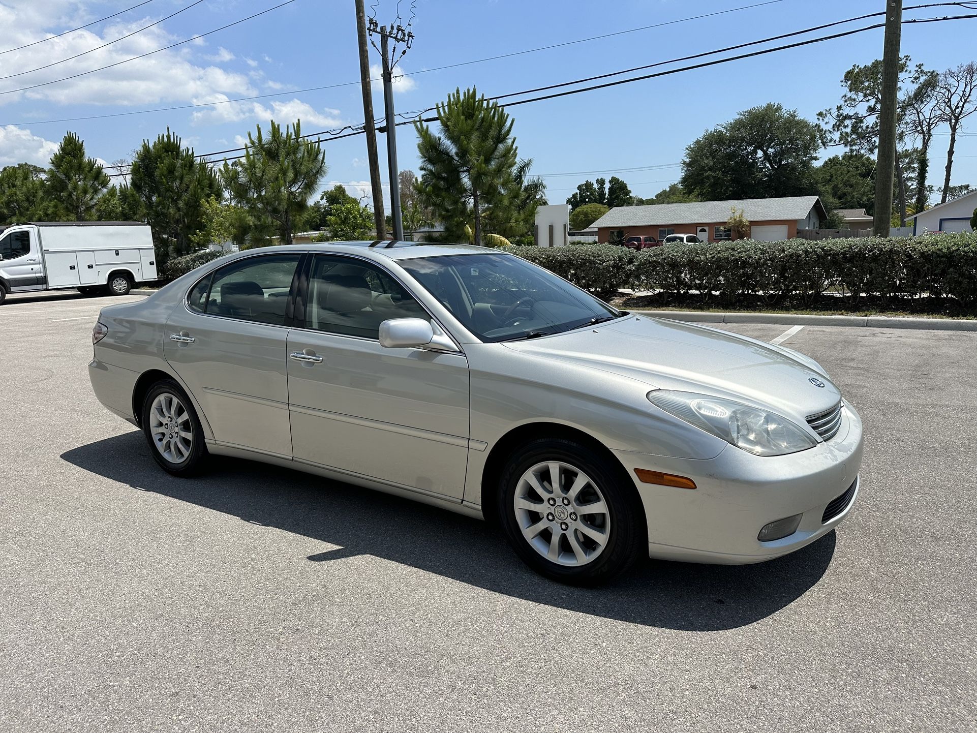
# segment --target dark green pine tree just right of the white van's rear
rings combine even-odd
[[[204,227],[203,202],[223,194],[217,175],[169,128],[154,143],[143,141],[132,161],[130,188],[163,262],[171,253],[190,252],[191,236]]]

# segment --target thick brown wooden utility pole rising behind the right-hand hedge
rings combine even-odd
[[[899,107],[899,42],[903,0],[885,0],[882,49],[882,100],[878,110],[878,159],[875,163],[875,213],[871,232],[888,237],[892,221],[892,180],[896,167],[896,111]]]

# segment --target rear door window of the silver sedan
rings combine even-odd
[[[241,321],[285,324],[285,307],[298,254],[249,257],[221,268],[198,282],[188,297],[193,310]],[[208,282],[203,294],[204,283]]]

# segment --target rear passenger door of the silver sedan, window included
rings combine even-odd
[[[197,282],[166,323],[166,361],[222,445],[292,456],[286,310],[300,257],[235,260]]]

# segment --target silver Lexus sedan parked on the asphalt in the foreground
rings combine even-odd
[[[103,309],[93,341],[95,394],[164,470],[232,455],[408,496],[564,582],[778,557],[859,489],[862,422],[814,360],[482,247],[240,252]]]

